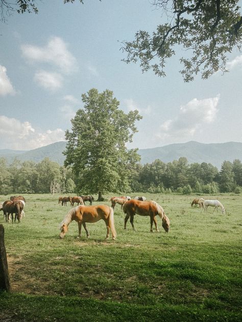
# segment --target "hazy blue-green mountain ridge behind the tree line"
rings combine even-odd
[[[13,162],[17,157],[21,161],[32,160],[40,162],[45,157],[57,162],[60,165],[64,164],[65,156],[62,152],[65,150],[66,142],[60,141],[44,147],[29,150],[16,151],[3,149],[0,150],[0,157],[5,157],[8,163]],[[179,157],[187,158],[188,163],[202,162],[211,163],[217,168],[221,168],[224,160],[233,162],[234,159],[242,160],[242,143],[227,142],[227,143],[199,143],[190,141],[186,143],[176,143],[165,145],[157,148],[139,149],[138,153],[141,156],[141,163],[152,163],[155,159],[160,159],[164,163],[178,160]]]

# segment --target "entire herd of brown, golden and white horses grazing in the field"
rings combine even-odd
[[[129,196],[122,197],[111,197],[111,206],[108,205],[95,205],[92,206],[92,196],[75,196],[75,197],[59,197],[58,203],[61,202],[62,206],[70,202],[72,209],[69,210],[60,224],[60,238],[63,238],[68,231],[68,225],[72,221],[76,221],[79,227],[78,238],[81,237],[82,226],[86,231],[87,238],[90,237],[86,227],[86,223],[95,223],[99,220],[104,220],[107,227],[106,238],[109,237],[109,231],[111,230],[112,238],[116,238],[116,230],[114,226],[114,207],[116,204],[120,204],[124,213],[126,214],[124,229],[127,229],[127,221],[130,219],[131,226],[134,228],[134,216],[139,214],[140,216],[150,217],[150,231],[153,232],[153,224],[155,224],[155,230],[158,230],[156,216],[158,215],[162,220],[163,229],[168,232],[170,230],[170,220],[166,216],[164,209],[155,201],[147,201],[146,197],[134,197],[131,199]],[[86,206],[85,201],[89,201],[90,205]],[[25,206],[26,200],[22,196],[12,196],[10,200],[0,203],[0,210],[4,212],[5,221],[10,221],[10,214],[13,222],[13,213],[15,213],[15,219],[20,222],[21,218],[25,216],[23,207]],[[74,204],[78,206],[74,208]],[[80,204],[80,205],[79,205]],[[218,200],[205,200],[203,198],[196,198],[192,201],[191,206],[199,205],[199,207],[207,210],[208,206],[212,206],[215,209],[221,208],[222,212],[225,213],[225,208],[222,203]],[[213,212],[214,212],[213,210]],[[218,210],[217,210],[218,211]]]

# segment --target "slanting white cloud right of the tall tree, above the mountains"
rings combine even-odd
[[[180,107],[177,117],[161,124],[157,137],[166,143],[190,140],[205,125],[215,121],[219,98],[219,95],[201,100],[193,98]]]

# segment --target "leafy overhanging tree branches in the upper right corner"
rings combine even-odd
[[[214,72],[227,71],[226,54],[240,50],[242,16],[239,0],[153,0],[153,5],[166,14],[167,23],[156,31],[139,30],[135,40],[124,41],[126,63],[140,62],[142,72],[152,69],[165,76],[165,63],[182,47],[187,57],[181,57],[180,71],[185,82],[199,72],[206,79]]]

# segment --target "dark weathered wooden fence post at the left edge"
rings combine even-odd
[[[8,261],[4,244],[4,226],[0,225],[0,289],[10,291]]]

